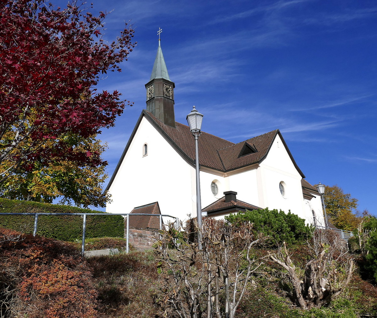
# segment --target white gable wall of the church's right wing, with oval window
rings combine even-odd
[[[264,183],[264,206],[270,209],[291,210],[308,223],[313,221],[312,213],[303,209],[301,175],[294,166],[279,135],[260,164],[261,178]],[[279,184],[284,182],[285,195],[280,194]]]

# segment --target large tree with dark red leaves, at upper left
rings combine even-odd
[[[0,186],[15,172],[67,160],[107,164],[90,149],[76,149],[67,134],[95,136],[114,125],[129,101],[118,91],[97,92],[107,71],[136,45],[126,28],[112,43],[103,20],[83,5],[55,8],[44,0],[0,1]],[[51,142],[53,141],[53,142]],[[47,146],[46,146],[47,145]]]

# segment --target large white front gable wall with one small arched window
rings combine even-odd
[[[143,145],[148,155],[143,157]],[[192,213],[195,170],[144,117],[110,186],[112,203],[106,212],[129,213],[158,201],[162,214],[186,219]],[[195,188],[194,188],[195,189]]]

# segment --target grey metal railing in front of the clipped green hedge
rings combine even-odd
[[[87,215],[126,215],[127,216],[127,221],[126,221],[126,253],[130,251],[129,248],[129,222],[130,222],[130,215],[148,215],[148,216],[154,216],[154,217],[160,217],[160,230],[162,229],[162,217],[170,217],[175,219],[176,226],[179,226],[179,219],[177,217],[173,217],[172,215],[169,214],[148,214],[148,213],[6,213],[2,212],[0,215],[34,215],[34,231],[33,231],[33,236],[37,234],[37,224],[38,224],[38,215],[81,215],[83,217],[83,240],[81,244],[81,253],[84,255],[84,245],[85,245],[85,228],[86,228],[86,216]]]

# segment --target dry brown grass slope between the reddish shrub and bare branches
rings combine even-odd
[[[88,259],[95,273],[104,318],[150,318],[162,315],[155,303],[161,283],[152,251]]]

